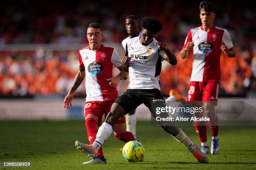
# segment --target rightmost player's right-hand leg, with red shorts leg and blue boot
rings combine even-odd
[[[216,154],[220,150],[218,137],[219,121],[218,116],[215,113],[215,105],[217,105],[218,101],[218,87],[218,83],[205,82],[203,88],[203,101],[205,101],[204,112],[205,115],[210,118],[208,125],[212,133],[211,154]]]

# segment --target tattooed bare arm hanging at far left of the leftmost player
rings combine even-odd
[[[73,99],[73,96],[74,96],[74,92],[77,90],[77,88],[79,87],[79,85],[81,85],[81,83],[83,82],[84,80],[84,77],[85,77],[85,70],[82,70],[80,69],[78,72],[77,72],[77,75],[76,77],[74,78],[74,83],[71,87],[71,89],[69,90],[67,96],[65,97],[64,99],[64,108],[67,108],[69,109],[69,107],[72,106],[72,99]],[[70,106],[69,106],[70,105]]]

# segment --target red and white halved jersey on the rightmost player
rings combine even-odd
[[[184,43],[194,42],[193,47],[193,69],[190,81],[220,82],[220,54],[221,44],[233,47],[227,30],[212,26],[210,31],[203,30],[202,26],[189,30]]]

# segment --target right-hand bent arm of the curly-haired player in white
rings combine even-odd
[[[171,65],[177,65],[176,56],[168,49],[164,43],[156,42],[155,45],[158,45],[158,49],[160,50],[159,55],[161,55],[164,60],[169,62]],[[164,54],[161,54],[161,51],[164,51]]]

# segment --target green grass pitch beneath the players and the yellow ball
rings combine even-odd
[[[200,144],[194,127],[185,126],[182,130]],[[76,150],[74,141],[88,142],[84,121],[0,121],[0,161],[31,162],[31,167],[23,168],[28,170],[256,169],[255,133],[255,126],[221,126],[220,152],[208,155],[209,164],[200,164],[159,126],[139,121],[137,134],[146,150],[143,163],[124,160],[119,151],[124,143],[111,135],[103,146],[108,164],[82,165],[88,158]],[[210,141],[209,131],[208,134]]]

